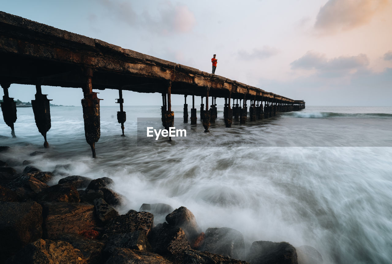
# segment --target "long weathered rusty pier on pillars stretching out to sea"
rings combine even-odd
[[[303,100],[293,100],[225,77],[202,72],[189,66],[165,61],[130,49],[109,44],[20,16],[0,11],[0,84],[4,90],[1,103],[5,123],[15,137],[16,104],[9,97],[11,84],[36,86],[31,101],[44,146],[49,144],[46,133],[51,128],[49,99],[41,86],[82,88],[82,107],[87,143],[95,157],[95,142],[100,138],[100,100],[93,89],[119,91],[120,111],[117,112],[124,135],[126,113],[123,91],[162,94],[162,125],[174,126],[171,94],[184,95],[184,122],[188,122],[187,96],[192,97],[191,124],[196,124],[194,97],[201,97],[200,118],[205,132],[216,119],[216,98],[225,98],[224,120],[231,127],[233,117],[240,123],[269,118],[277,112],[305,108]],[[203,98],[205,97],[205,104]],[[211,107],[209,98],[212,97]],[[232,107],[231,105],[232,101]]]

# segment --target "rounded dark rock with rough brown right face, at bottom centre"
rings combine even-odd
[[[148,236],[152,251],[160,255],[181,257],[183,251],[191,249],[181,227],[163,223],[151,229]]]

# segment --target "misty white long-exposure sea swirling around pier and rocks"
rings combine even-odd
[[[160,106],[124,106],[124,137],[118,106],[102,106],[93,159],[81,106],[51,108],[49,148],[32,108],[17,108],[16,138],[0,123],[0,145],[11,147],[0,159],[20,172],[24,160],[56,170],[51,185],[68,175],[112,178],[126,198],[120,213],[185,206],[201,231],[234,228],[247,248],[286,241],[316,248],[323,263],[392,263],[392,107],[306,106],[226,128],[218,105],[209,133],[199,111],[191,125],[182,105],[172,110],[187,134],[169,141],[147,137],[147,127],[163,129]]]

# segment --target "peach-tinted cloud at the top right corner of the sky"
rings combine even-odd
[[[354,29],[389,4],[388,0],[329,0],[320,8],[314,27],[327,33]]]

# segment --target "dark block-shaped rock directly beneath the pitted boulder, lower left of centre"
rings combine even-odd
[[[105,234],[102,239],[107,240],[105,251],[113,251],[114,248],[151,251],[151,246],[145,232],[139,230],[121,234]]]

